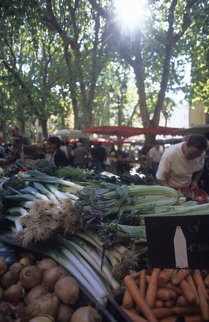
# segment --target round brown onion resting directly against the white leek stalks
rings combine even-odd
[[[79,297],[79,286],[76,280],[70,276],[64,276],[56,282],[54,287],[56,296],[62,303],[72,304]]]

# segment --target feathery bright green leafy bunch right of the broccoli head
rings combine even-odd
[[[59,167],[59,169],[56,170],[55,176],[57,178],[64,178],[68,181],[84,181],[84,176],[86,174],[85,169],[79,169],[79,168],[73,168],[72,166],[66,166],[64,168]]]

